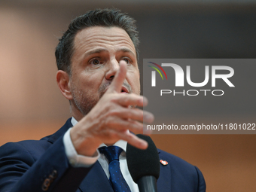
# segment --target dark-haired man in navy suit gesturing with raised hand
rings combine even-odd
[[[147,148],[133,133],[143,133],[143,119],[151,123],[154,116],[135,108],[148,103],[139,96],[137,34],[135,21],[114,9],[72,21],[56,47],[56,81],[72,118],[40,141],[0,148],[0,191],[120,191],[108,154],[98,150],[112,145],[123,149],[117,162],[126,191],[139,191],[126,166],[126,144]],[[206,190],[197,167],[164,151],[159,156],[169,164],[160,166],[158,191]]]

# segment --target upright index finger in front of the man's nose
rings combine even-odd
[[[111,82],[110,86],[108,87],[108,90],[106,93],[120,93],[123,86],[123,81],[126,78],[126,62],[121,60],[120,61],[120,68],[116,75],[114,75],[114,79]]]

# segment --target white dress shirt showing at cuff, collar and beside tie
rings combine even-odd
[[[74,117],[72,117],[71,123],[72,123],[73,126],[75,126],[75,124],[78,123],[78,121],[75,120]],[[89,167],[89,166],[93,165],[93,163],[96,163],[96,160],[98,160],[99,164],[102,166],[102,169],[105,172],[105,175],[107,175],[107,177],[109,178],[108,159],[105,157],[105,155],[100,154],[99,150],[96,151],[96,154],[94,154],[93,157],[87,157],[87,156],[83,156],[83,155],[78,154],[77,151],[75,150],[75,147],[74,147],[74,145],[72,143],[72,140],[70,138],[70,130],[71,129],[72,128],[70,128],[65,133],[65,135],[63,137],[63,143],[64,143],[66,155],[69,159],[69,163],[72,166],[75,166],[75,167],[81,167],[81,166]],[[130,172],[129,172],[128,166],[127,166],[127,161],[126,161],[126,145],[127,145],[127,142],[125,142],[123,140],[119,140],[114,145],[123,149],[123,151],[122,151],[122,153],[120,154],[120,157],[119,157],[120,170],[123,174],[123,178],[126,180],[127,184],[130,187],[130,190],[132,192],[139,192],[139,187],[133,181],[133,178],[130,175]],[[102,146],[106,146],[106,145],[102,143],[101,145],[99,145],[99,148],[102,147]]]

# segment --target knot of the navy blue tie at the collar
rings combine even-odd
[[[112,160],[119,160],[119,156],[122,151],[123,149],[117,146],[99,148],[99,152],[101,154],[105,154],[105,157],[107,157],[108,163],[110,163]]]

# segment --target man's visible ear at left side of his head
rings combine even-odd
[[[56,73],[56,81],[62,95],[65,96],[66,99],[72,100],[73,97],[70,91],[69,74],[62,70],[59,70]]]

